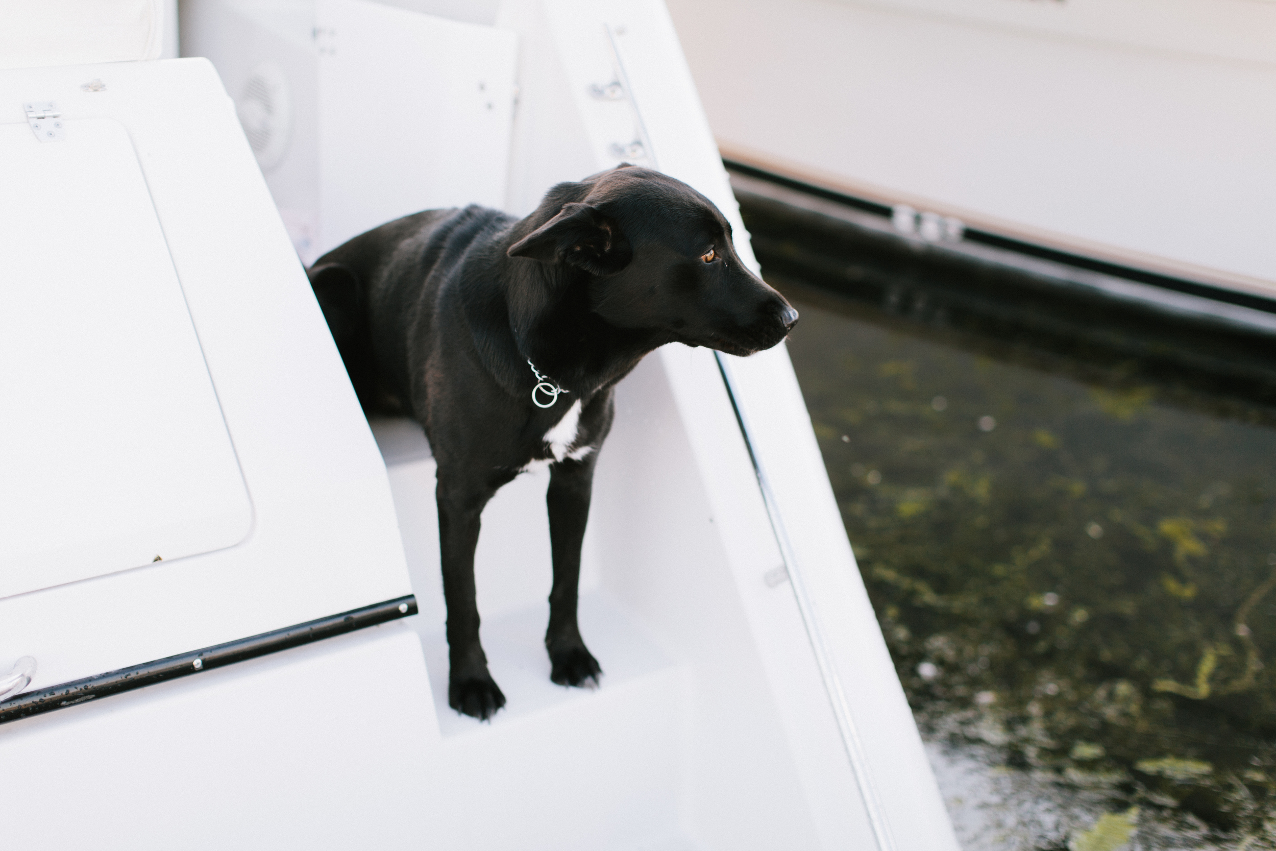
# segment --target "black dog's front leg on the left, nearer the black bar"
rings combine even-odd
[[[505,706],[505,695],[487,672],[487,656],[478,642],[475,598],[475,546],[480,517],[491,494],[487,487],[453,481],[441,471],[435,490],[443,597],[448,605],[448,706],[482,720]]]

